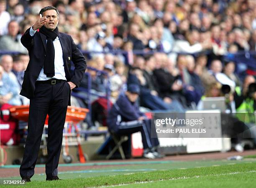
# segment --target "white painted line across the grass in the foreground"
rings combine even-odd
[[[181,179],[192,179],[192,178],[203,178],[203,177],[208,177],[208,176],[221,176],[221,175],[233,175],[233,174],[243,174],[243,173],[256,173],[256,170],[251,170],[247,172],[231,172],[231,173],[222,173],[222,174],[211,174],[211,175],[195,175],[192,177],[178,177],[178,178],[170,178],[166,180],[181,180]],[[134,182],[134,183],[120,183],[118,185],[102,185],[100,187],[90,187],[90,188],[109,188],[109,187],[118,187],[122,185],[132,185],[132,184],[143,184],[143,183],[154,183],[156,181],[164,181],[164,180],[150,180],[150,181],[140,181],[140,182]]]

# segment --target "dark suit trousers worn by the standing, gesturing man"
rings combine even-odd
[[[67,113],[70,86],[67,81],[51,85],[36,82],[34,97],[30,99],[28,136],[25,144],[23,160],[20,165],[21,177],[32,177],[41,144],[41,137],[47,114],[48,139],[46,176],[58,174],[59,156],[61,152],[63,128]]]

